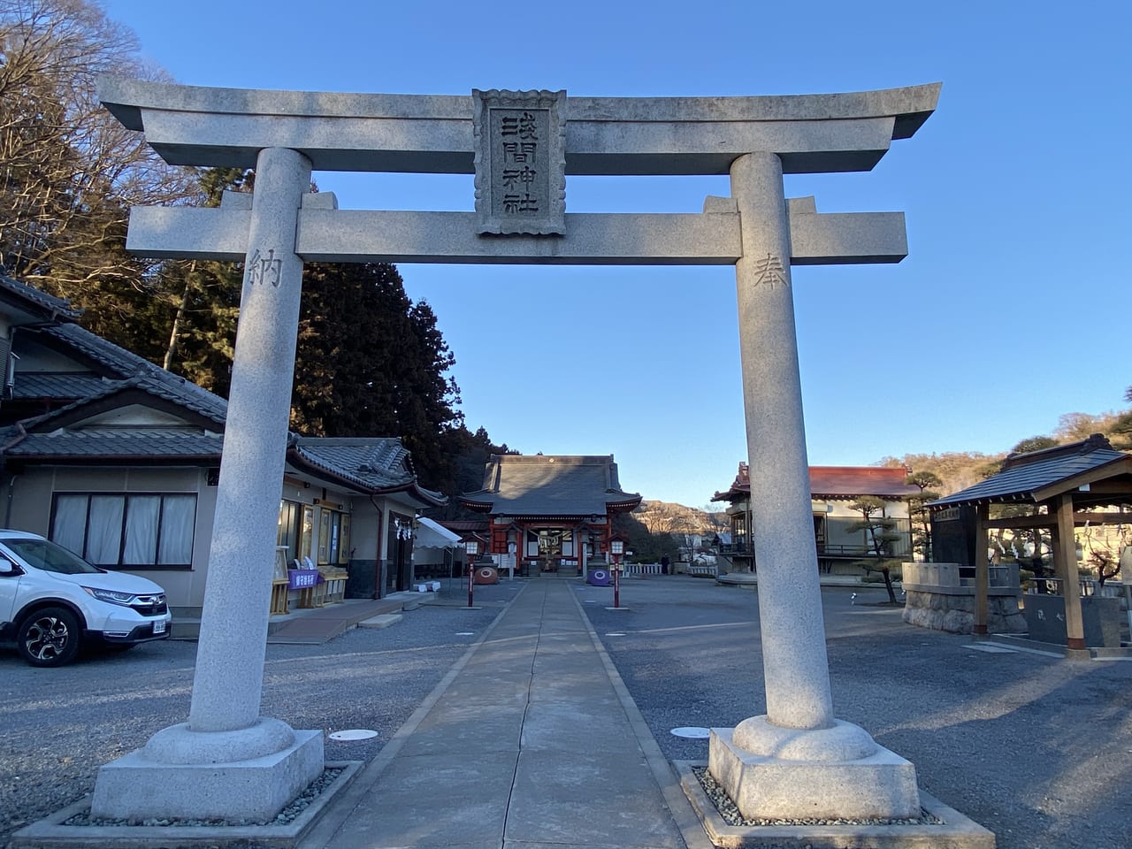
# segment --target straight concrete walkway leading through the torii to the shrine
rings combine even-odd
[[[532,580],[303,849],[711,846],[574,582]]]

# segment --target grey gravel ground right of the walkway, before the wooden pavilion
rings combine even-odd
[[[604,609],[609,590],[577,594],[668,758],[707,758],[706,740],[672,728],[765,712],[752,590],[627,580],[627,612]],[[910,760],[998,849],[1132,847],[1132,662],[987,653],[903,624],[883,590],[850,594],[822,593],[839,719]]]

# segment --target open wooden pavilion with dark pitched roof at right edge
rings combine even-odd
[[[992,505],[1030,507],[1028,515],[990,517]],[[933,514],[974,508],[975,633],[987,633],[989,531],[1048,529],[1054,569],[1065,599],[1066,645],[1083,650],[1084,627],[1077,573],[1074,528],[1132,523],[1132,455],[1100,434],[1054,448],[1011,454],[1002,470],[974,487],[927,505]],[[1127,580],[1127,576],[1125,576]]]

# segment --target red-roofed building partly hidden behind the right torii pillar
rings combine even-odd
[[[911,559],[911,520],[908,499],[919,495],[919,488],[906,483],[908,470],[900,466],[809,466],[811,507],[814,516],[814,542],[817,564],[822,572],[859,575],[855,561],[868,559],[872,552],[866,531],[852,531],[860,513],[851,505],[861,496],[876,496],[884,501],[884,518],[893,522],[891,533],[897,539],[887,547],[887,556]],[[731,486],[712,497],[727,501],[731,520],[731,539],[721,551],[731,564],[731,571],[755,571],[754,520],[751,513],[751,468],[739,463]]]

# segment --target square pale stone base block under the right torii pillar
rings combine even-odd
[[[871,754],[855,760],[824,756],[784,760],[739,748],[732,740],[734,731],[731,728],[711,729],[707,770],[748,820],[912,818],[920,815],[916,767],[875,743]],[[839,721],[835,729],[796,731],[795,743],[807,734],[825,737],[844,734],[858,740],[865,732]]]

